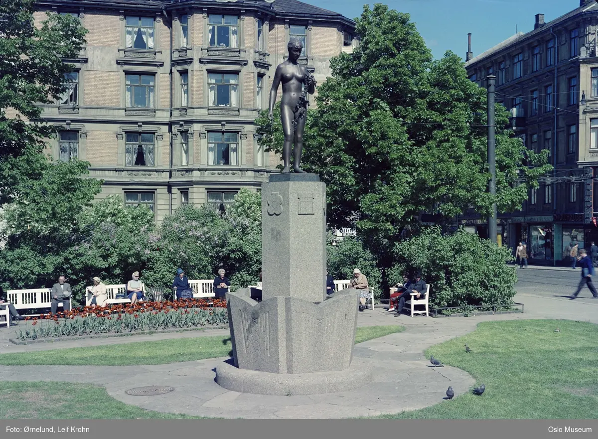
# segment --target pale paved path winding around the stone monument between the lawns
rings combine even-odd
[[[429,346],[475,330],[479,322],[565,318],[598,323],[598,301],[590,298],[572,301],[562,297],[522,293],[515,297],[515,301],[524,303],[524,314],[433,319],[423,316],[395,318],[382,309],[359,313],[360,326],[401,324],[405,325],[406,330],[356,345],[354,355],[370,358],[374,364],[376,378],[373,383],[361,388],[336,394],[271,396],[227,391],[214,382],[214,368],[225,358],[139,367],[10,366],[2,367],[0,379],[94,383],[105,386],[109,395],[127,404],[149,410],[199,416],[332,419],[398,413],[443,401],[444,392],[449,385],[453,386],[456,395],[468,391],[474,385],[474,379],[457,368],[428,367],[429,362],[423,356],[423,351]],[[53,343],[50,347],[71,347],[73,344],[96,346],[114,342],[198,337],[208,334],[227,334],[227,331],[155,334],[117,340],[91,339],[64,342],[63,345]],[[5,343],[2,345],[0,352],[48,349],[45,344],[14,346],[10,349]],[[125,394],[127,389],[149,385],[172,386],[175,391],[152,397]]]

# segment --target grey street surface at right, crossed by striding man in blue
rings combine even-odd
[[[528,267],[527,269],[517,268],[518,282],[515,284],[518,295],[533,295],[539,297],[550,297],[569,301],[568,297],[575,292],[581,279],[581,269],[557,269]],[[598,278],[594,281],[598,285]],[[590,290],[584,286],[579,293],[577,301],[594,303]],[[515,301],[517,299],[515,298]]]

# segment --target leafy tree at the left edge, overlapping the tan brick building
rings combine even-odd
[[[22,179],[36,179],[45,166],[44,140],[56,128],[42,122],[40,103],[66,91],[63,62],[78,55],[87,31],[69,15],[48,14],[35,26],[35,0],[0,2],[0,205],[23,189]]]

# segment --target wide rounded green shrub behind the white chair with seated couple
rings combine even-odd
[[[517,274],[507,265],[514,260],[509,249],[463,228],[450,235],[441,234],[437,227],[425,229],[397,243],[394,260],[388,272],[391,285],[404,273],[420,270],[431,285],[434,307],[508,305],[515,295]]]

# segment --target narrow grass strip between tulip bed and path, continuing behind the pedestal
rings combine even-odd
[[[404,329],[405,327],[399,325],[359,327],[355,335],[355,343],[377,339],[401,332]],[[156,342],[4,353],[0,355],[0,365],[127,366],[168,364],[229,356],[232,355],[231,347],[230,337],[169,339]]]

